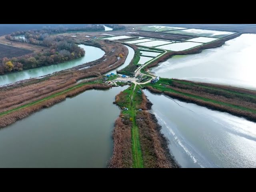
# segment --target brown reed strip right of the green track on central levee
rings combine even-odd
[[[156,117],[151,114],[152,103],[136,86],[133,96],[135,113],[134,132],[140,141],[140,150],[144,168],[178,168],[180,167],[168,148],[168,140],[161,133],[161,126]],[[142,109],[139,111],[138,109]]]

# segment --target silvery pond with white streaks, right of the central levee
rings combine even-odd
[[[256,123],[144,92],[182,167],[256,168]]]

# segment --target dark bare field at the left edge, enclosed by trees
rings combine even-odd
[[[7,58],[18,57],[18,56],[22,56],[30,53],[33,53],[33,51],[0,44],[0,59],[4,57],[7,57]]]

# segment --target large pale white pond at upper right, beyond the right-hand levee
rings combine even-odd
[[[152,69],[162,78],[226,84],[256,90],[256,34],[242,34],[222,47],[174,56]]]

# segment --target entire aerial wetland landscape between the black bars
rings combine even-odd
[[[256,168],[256,24],[0,24],[0,168]]]

